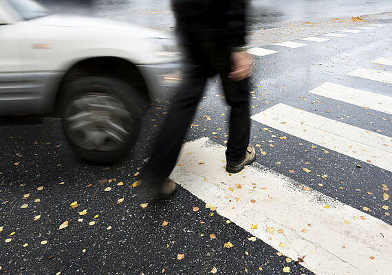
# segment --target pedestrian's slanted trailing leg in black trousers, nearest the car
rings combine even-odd
[[[171,102],[166,120],[157,135],[149,162],[142,170],[142,180],[161,188],[175,167],[186,131],[202,96],[205,76],[190,76],[184,80]]]

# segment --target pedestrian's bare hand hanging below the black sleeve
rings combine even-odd
[[[232,72],[228,78],[239,81],[248,78],[252,74],[252,58],[246,51],[232,52]]]

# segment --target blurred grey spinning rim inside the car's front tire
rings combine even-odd
[[[85,94],[65,108],[65,131],[86,150],[113,151],[127,143],[133,117],[113,95]]]

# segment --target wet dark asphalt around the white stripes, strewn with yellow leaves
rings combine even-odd
[[[360,8],[353,11],[362,13]],[[255,57],[252,115],[283,103],[391,137],[388,113],[308,92],[329,82],[391,96],[389,83],[347,76],[358,67],[392,72],[391,66],[371,63],[392,57],[391,18],[382,22],[383,28],[328,37],[323,43],[294,40],[308,44],[297,49],[263,46],[278,53]],[[208,83],[199,107],[186,141],[208,137],[224,146],[228,108],[219,79]],[[249,241],[253,234],[248,229],[227,223],[219,209],[205,208],[206,202],[186,188],[179,186],[173,198],[160,200],[143,184],[132,186],[165,111],[161,104],[151,107],[135,150],[112,166],[76,158],[59,120],[1,120],[0,274],[210,274],[213,267],[217,274],[285,274],[287,266],[290,274],[314,274],[296,259],[279,256],[283,245],[276,249],[268,240]],[[382,186],[392,187],[390,170],[257,121],[251,131],[251,144],[261,144],[265,151],[255,165],[392,225],[386,214],[391,210],[382,208],[390,206],[383,194],[391,193]],[[287,139],[279,139],[283,136]],[[312,173],[301,173],[305,162]],[[148,206],[142,208],[142,203]],[[67,227],[59,230],[65,221]],[[228,242],[232,248],[224,247]],[[178,260],[181,254],[184,259]]]

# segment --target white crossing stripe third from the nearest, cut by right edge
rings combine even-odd
[[[309,93],[392,114],[392,98],[390,96],[382,96],[334,83],[324,83]]]

